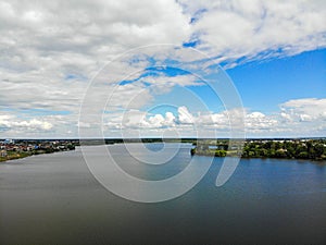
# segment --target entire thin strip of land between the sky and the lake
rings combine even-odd
[[[5,139],[9,140],[9,139]],[[302,159],[326,160],[326,138],[286,138],[286,139],[197,139],[197,138],[126,138],[126,139],[14,139],[9,144],[0,142],[0,162],[74,150],[76,146],[97,146],[129,143],[183,143],[192,144],[191,155],[233,157],[243,159]]]

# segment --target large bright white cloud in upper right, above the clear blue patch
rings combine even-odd
[[[198,48],[224,59],[292,56],[326,46],[325,1],[180,2],[195,15]]]

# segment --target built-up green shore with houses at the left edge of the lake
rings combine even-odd
[[[0,162],[26,158],[33,155],[74,150],[75,139],[5,139],[0,140]]]

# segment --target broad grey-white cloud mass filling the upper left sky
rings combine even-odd
[[[104,62],[138,46],[181,44],[190,32],[189,17],[172,0],[0,4],[1,108],[77,111]]]

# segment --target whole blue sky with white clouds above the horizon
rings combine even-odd
[[[325,137],[324,23],[323,0],[0,0],[0,138]]]

